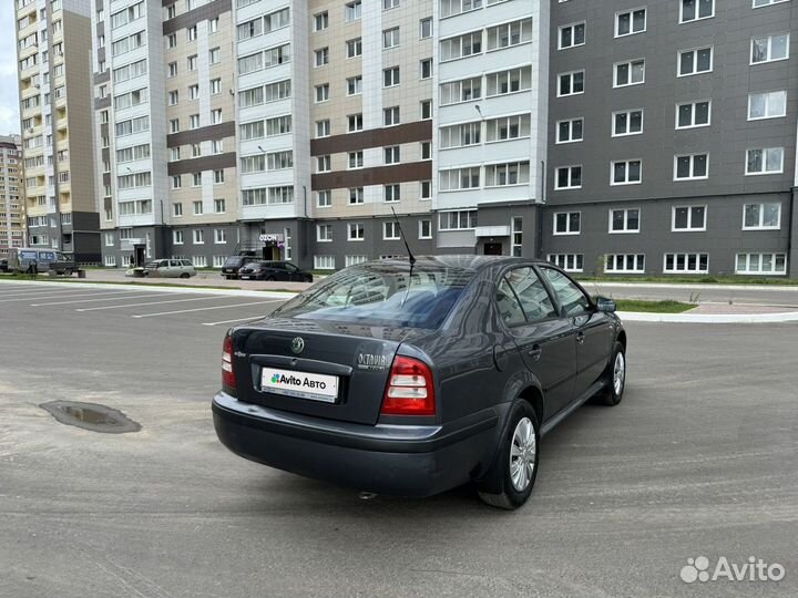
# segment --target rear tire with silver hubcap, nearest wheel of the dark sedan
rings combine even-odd
[[[510,408],[499,452],[485,480],[493,480],[500,492],[480,491],[480,498],[508,511],[522,506],[532,494],[540,461],[540,424],[532,405],[519,399]],[[515,465],[518,464],[518,466]]]

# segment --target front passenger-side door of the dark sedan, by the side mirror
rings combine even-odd
[[[576,282],[555,268],[541,271],[576,332],[576,395],[601,378],[612,351],[613,321],[597,311],[590,296]]]

